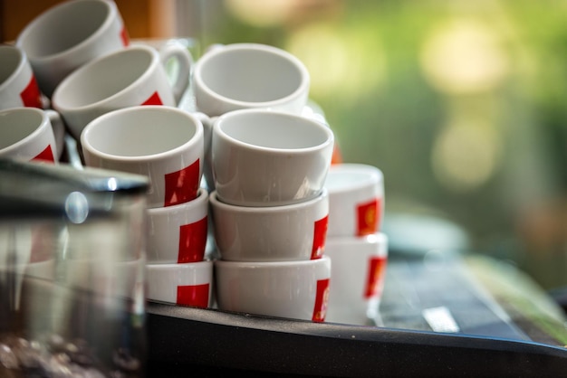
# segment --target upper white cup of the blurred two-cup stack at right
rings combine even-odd
[[[380,231],[384,214],[384,177],[364,164],[332,165],[325,181],[329,191],[330,237],[362,236]]]

